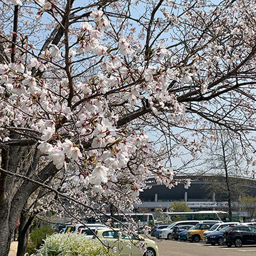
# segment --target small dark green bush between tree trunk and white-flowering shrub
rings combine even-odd
[[[50,226],[42,226],[36,228],[30,233],[30,241],[28,242],[27,252],[32,254],[36,252],[36,249],[40,247],[46,236],[50,236],[54,231]]]

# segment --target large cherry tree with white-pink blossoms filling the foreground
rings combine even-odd
[[[150,174],[172,188],[172,159],[201,153],[216,124],[254,150],[254,1],[1,7],[1,256],[30,196],[59,195],[56,175],[88,210],[88,194],[127,210]]]

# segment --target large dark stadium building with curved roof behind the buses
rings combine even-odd
[[[184,188],[184,184],[180,183],[172,189],[165,185],[156,183],[154,177],[148,179],[150,188],[140,192],[142,204],[139,208],[148,208],[154,211],[155,208],[162,207],[166,210],[170,204],[175,201],[184,201],[188,204],[191,211],[199,210],[225,210],[228,209],[227,195],[225,193],[214,193],[208,189],[208,183],[214,179],[214,175],[180,175],[178,178],[190,178],[191,186],[188,189]],[[224,177],[222,177],[224,178]],[[246,195],[256,196],[256,179],[235,178],[237,183],[241,184],[241,191]],[[239,195],[238,195],[239,196]],[[242,196],[242,195],[240,195]],[[239,211],[236,208],[237,202],[233,203],[234,211]],[[241,215],[245,213],[240,213]]]

